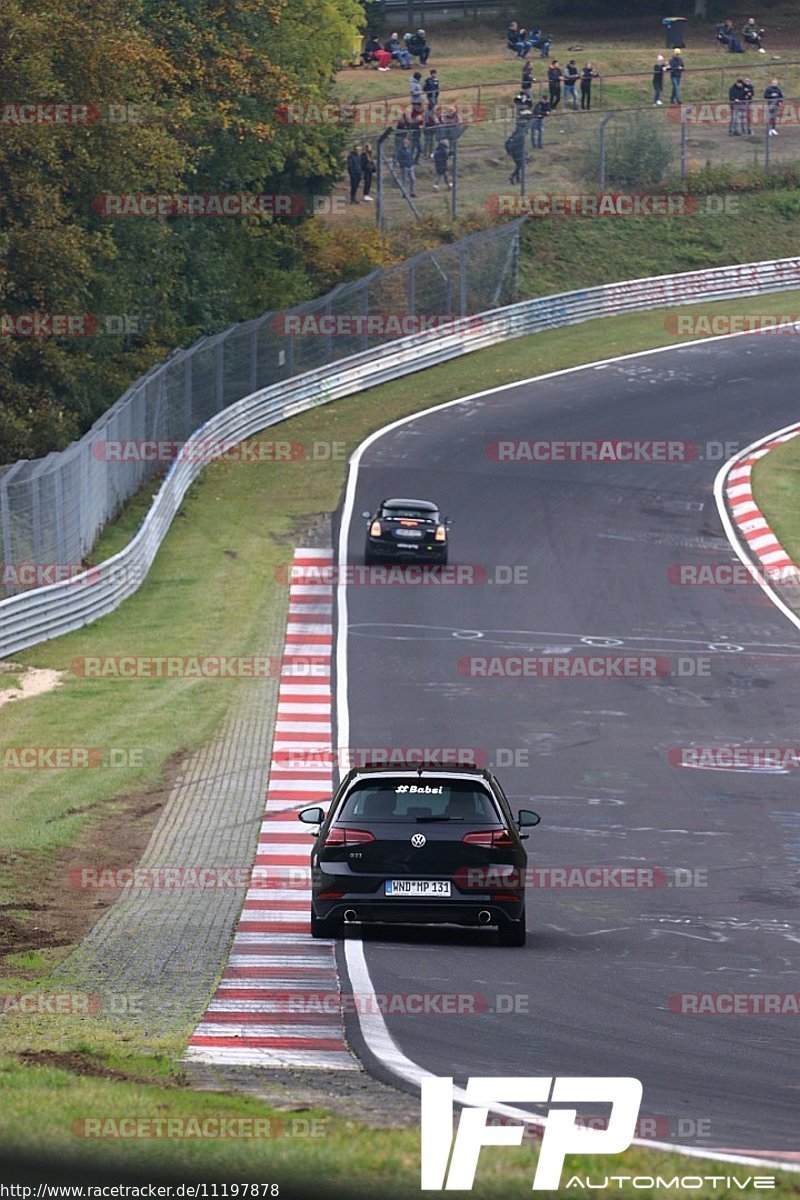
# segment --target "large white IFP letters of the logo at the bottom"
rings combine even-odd
[[[438,1192],[441,1188],[446,1188],[447,1192],[471,1192],[481,1146],[522,1145],[524,1123],[521,1121],[517,1126],[487,1124],[491,1105],[515,1102],[549,1105],[575,1105],[577,1102],[583,1102],[610,1105],[610,1116],[604,1129],[577,1124],[576,1108],[551,1108],[536,1163],[534,1192],[551,1192],[559,1188],[567,1154],[619,1154],[627,1150],[636,1134],[636,1122],[642,1105],[642,1084],[638,1079],[624,1076],[475,1078],[467,1082],[465,1105],[461,1111],[453,1140],[452,1079],[431,1076],[422,1080],[421,1088],[420,1187],[423,1192]]]

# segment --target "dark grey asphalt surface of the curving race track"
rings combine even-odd
[[[793,340],[757,336],[634,356],[416,418],[365,451],[350,563],[363,562],[361,510],[411,496],[453,518],[452,563],[493,580],[523,570],[507,583],[348,588],[350,745],[485,749],[512,804],[542,816],[531,865],[667,875],[662,887],[531,889],[524,949],[485,930],[367,931],[377,992],[480,997],[462,1001],[475,1013],[387,1015],[428,1070],[459,1084],[634,1075],[660,1140],[800,1148],[800,1015],[670,1007],[800,991],[800,769],[668,757],[800,744],[794,626],[758,587],[668,574],[735,560],[714,478],[798,418],[798,362]],[[487,451],[500,439],[680,440],[699,456],[500,462]],[[559,653],[656,654],[669,673],[482,678],[464,662]],[[675,886],[678,869],[692,886]]]

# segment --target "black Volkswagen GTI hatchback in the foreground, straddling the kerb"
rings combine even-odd
[[[470,767],[362,767],[349,772],[311,852],[313,937],[343,924],[494,925],[503,946],[525,944],[525,826],[488,772]]]

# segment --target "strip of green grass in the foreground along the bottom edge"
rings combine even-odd
[[[420,1195],[420,1140],[416,1129],[375,1129],[348,1120],[347,1114],[332,1115],[323,1109],[276,1109],[241,1094],[76,1076],[55,1067],[20,1066],[10,1057],[0,1060],[0,1086],[4,1092],[0,1134],[6,1153],[18,1151],[31,1158],[41,1156],[43,1162],[56,1158],[82,1170],[138,1169],[151,1180],[161,1172],[172,1172],[186,1180],[275,1181],[284,1187],[289,1180],[295,1186],[307,1180],[309,1187],[324,1186],[326,1181],[331,1184],[347,1181],[348,1192],[356,1196],[374,1196],[379,1192],[392,1198]],[[209,1126],[209,1121],[249,1121],[249,1126],[240,1128],[260,1129],[261,1135],[235,1139],[100,1139],[83,1135],[88,1128],[98,1129],[96,1124],[86,1126],[86,1121],[107,1122],[100,1128],[110,1133],[125,1129],[119,1122],[131,1117],[206,1122],[209,1132],[216,1128],[216,1124]],[[253,1126],[253,1121],[269,1124]],[[531,1145],[536,1146],[535,1142]],[[504,1200],[523,1200],[529,1196],[535,1166],[531,1145],[483,1150],[471,1193],[475,1200],[500,1196]],[[595,1181],[607,1174],[662,1175],[666,1178],[688,1174],[736,1174],[741,1178],[751,1171],[741,1166],[732,1168],[730,1164],[700,1164],[675,1154],[636,1148],[622,1156],[567,1159],[561,1178],[565,1182],[572,1174],[589,1174]],[[759,1169],[758,1174],[772,1172]],[[800,1178],[778,1175],[777,1188],[781,1200],[799,1196]],[[619,1189],[614,1187],[613,1192],[601,1189],[593,1194],[640,1196],[644,1193],[640,1188],[624,1186]],[[691,1193],[669,1192],[669,1195],[694,1195],[702,1200],[730,1194],[718,1188],[714,1190],[711,1186],[692,1188]]]

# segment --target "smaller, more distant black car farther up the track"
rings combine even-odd
[[[381,500],[367,521],[363,559],[367,565],[386,559],[407,563],[447,562],[450,517],[443,517],[432,500]]]

